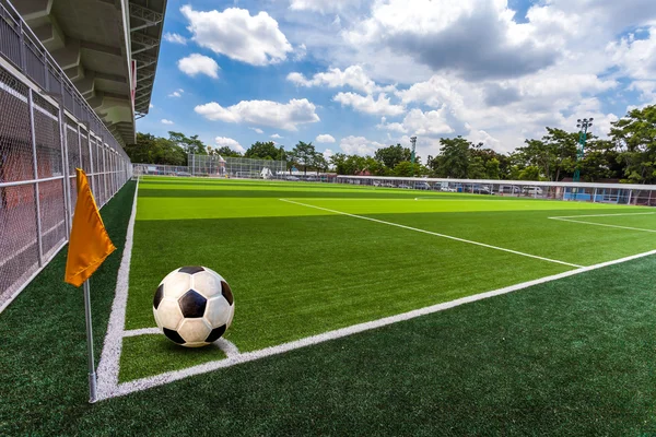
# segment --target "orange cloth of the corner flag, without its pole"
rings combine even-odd
[[[89,188],[89,180],[81,168],[78,174],[78,203],[71,228],[69,252],[66,260],[63,282],[80,286],[103,261],[116,250],[107,235],[103,218]]]

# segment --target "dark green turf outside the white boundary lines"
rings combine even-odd
[[[118,253],[131,190],[103,209]],[[94,405],[65,258],[0,315],[0,435],[656,433],[653,256]],[[96,345],[118,258],[94,276]]]

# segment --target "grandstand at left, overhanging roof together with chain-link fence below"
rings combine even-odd
[[[99,206],[132,175],[166,0],[0,0],[0,309],[66,245],[82,167]]]

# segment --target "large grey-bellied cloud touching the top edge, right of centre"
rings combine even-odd
[[[344,38],[356,51],[406,57],[433,72],[476,80],[520,76],[553,64],[560,51],[513,17],[505,0],[377,1]]]

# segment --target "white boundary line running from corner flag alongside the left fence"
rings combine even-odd
[[[139,193],[139,178],[134,187],[134,200],[132,201],[132,212],[128,222],[128,232],[126,234],[126,246],[124,248],[118,277],[116,280],[116,295],[112,304],[112,314],[107,323],[107,334],[103,344],[103,352],[98,363],[97,374],[97,397],[107,398],[118,385],[118,371],[120,366],[120,352],[122,349],[124,328],[126,326],[126,308],[128,305],[128,288],[130,285],[130,259],[132,256],[132,243],[134,238],[134,218],[137,216],[137,197]]]

